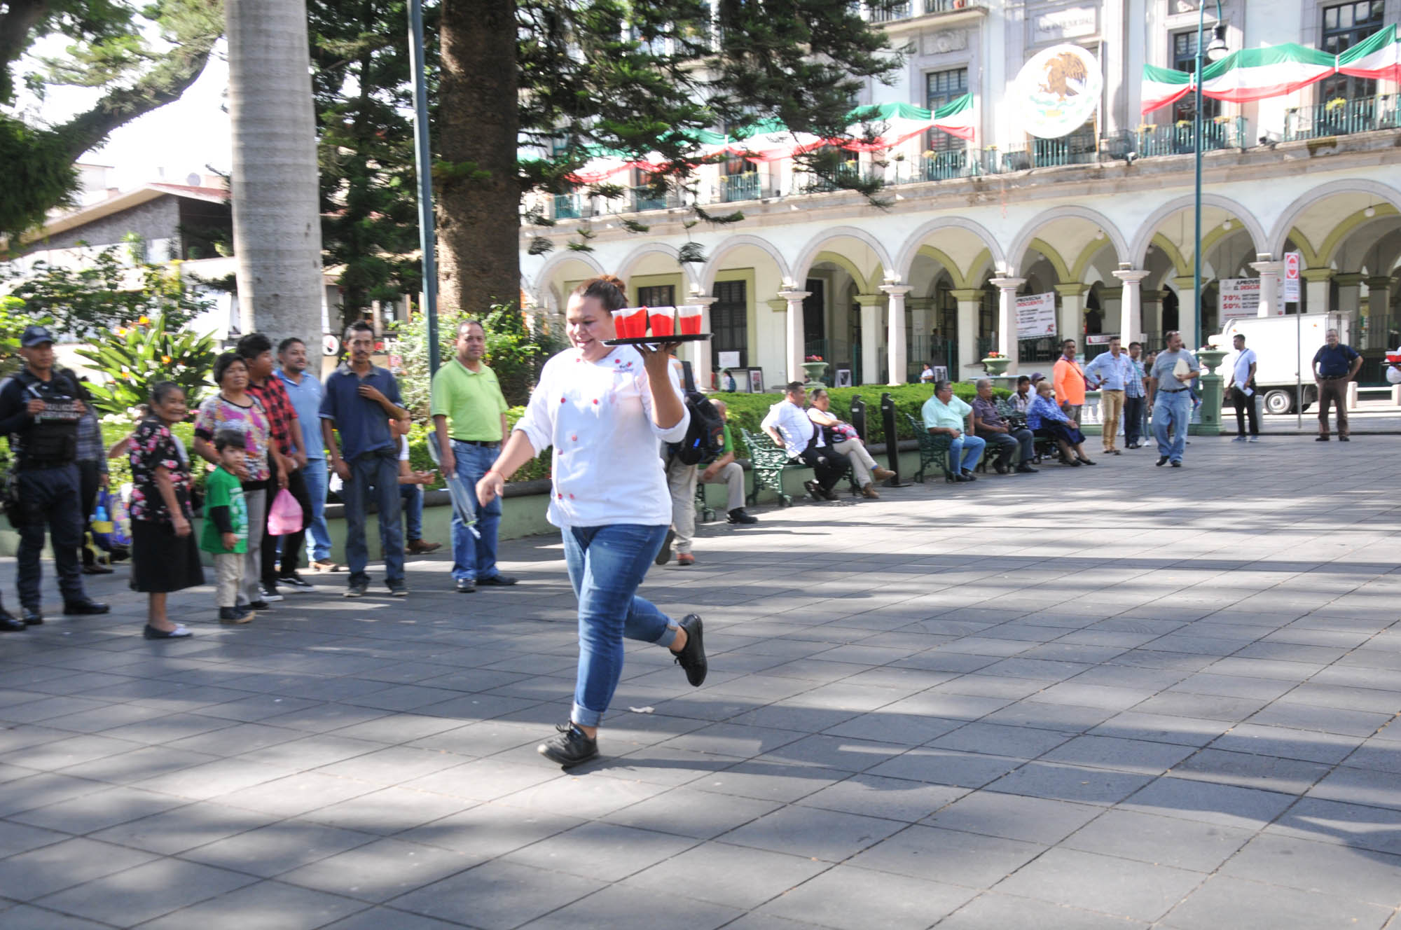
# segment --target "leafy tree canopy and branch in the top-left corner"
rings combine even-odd
[[[0,4],[0,234],[14,240],[69,203],[73,162],[112,130],[179,98],[223,34],[223,0],[8,0]],[[151,36],[151,38],[149,38]],[[35,56],[67,41],[62,57]],[[20,88],[101,88],[87,111],[46,125]]]

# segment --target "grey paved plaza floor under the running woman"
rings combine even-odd
[[[122,569],[111,616],[0,637],[0,926],[1394,929],[1397,448],[1196,437],[710,524],[643,588],[705,616],[709,681],[629,644],[569,773],[555,538],[474,595],[447,559],[247,627],[182,592],[186,641]]]

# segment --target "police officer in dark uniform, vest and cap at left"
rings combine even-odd
[[[83,511],[77,455],[77,427],[84,405],[67,371],[53,368],[53,336],[43,326],[27,326],[20,336],[24,368],[0,385],[0,433],[10,437],[14,459],[13,520],[20,531],[20,604],[24,625],[43,623],[39,552],[48,524],[53,562],[59,570],[63,612],[106,613],[83,591],[78,548]],[[13,629],[13,627],[7,627]]]

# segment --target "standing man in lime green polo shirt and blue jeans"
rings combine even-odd
[[[476,531],[453,515],[453,581],[458,594],[471,594],[478,584],[516,584],[496,570],[496,529],[502,522],[502,500],[486,507],[476,501],[476,482],[496,462],[502,443],[510,436],[506,398],[496,373],[482,364],[486,331],[468,319],[457,328],[457,356],[433,375],[429,412],[443,451],[443,473],[457,473],[476,508]]]

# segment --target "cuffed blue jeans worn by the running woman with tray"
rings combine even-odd
[[[597,727],[622,678],[622,640],[671,646],[678,627],[637,597],[667,527],[612,524],[563,531],[565,564],[579,598],[579,676],[570,720]]]

